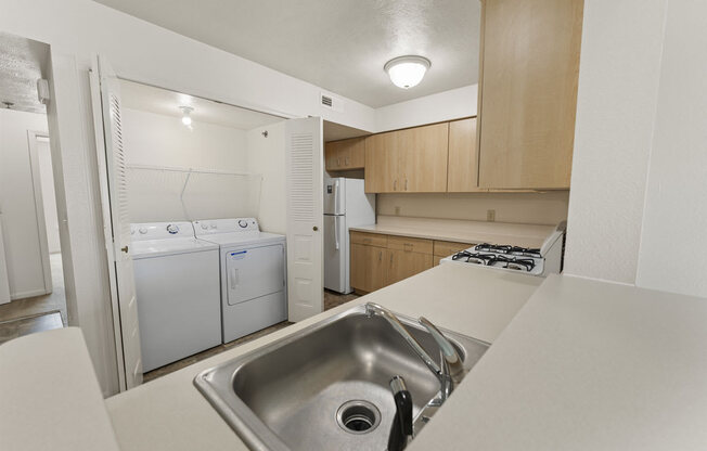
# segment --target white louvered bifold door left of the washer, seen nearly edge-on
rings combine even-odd
[[[125,390],[142,383],[142,356],[130,255],[120,83],[108,62],[100,55],[93,65],[91,90],[118,378],[120,389]]]

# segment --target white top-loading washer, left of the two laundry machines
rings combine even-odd
[[[219,246],[195,239],[191,222],[130,232],[143,371],[220,345]]]

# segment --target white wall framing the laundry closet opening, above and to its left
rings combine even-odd
[[[104,395],[117,390],[107,265],[87,70],[102,53],[124,78],[284,117],[322,116],[373,130],[373,109],[342,98],[343,112],[321,107],[321,89],[159,28],[90,0],[0,0],[0,29],[51,44],[52,156],[69,323],[79,324]],[[340,98],[340,95],[339,95]],[[59,172],[57,172],[59,171]],[[64,215],[65,217],[62,217]],[[68,281],[68,279],[72,281]],[[74,309],[74,312],[72,312]]]

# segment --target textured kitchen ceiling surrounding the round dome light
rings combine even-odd
[[[478,80],[478,0],[95,0],[378,107]],[[432,61],[413,89],[383,65]]]

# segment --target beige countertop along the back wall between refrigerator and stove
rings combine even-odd
[[[378,216],[375,224],[351,227],[349,230],[460,243],[540,247],[555,226]]]

